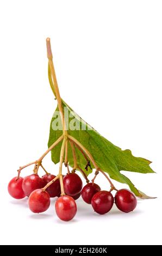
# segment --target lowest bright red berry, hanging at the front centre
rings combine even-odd
[[[70,221],[77,212],[76,202],[70,196],[61,196],[55,203],[55,211],[62,221]]]

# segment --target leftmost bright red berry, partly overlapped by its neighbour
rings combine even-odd
[[[8,184],[8,192],[11,197],[14,197],[16,199],[22,199],[26,196],[22,189],[22,182],[22,177],[19,177],[18,179],[17,177],[14,177],[13,179],[10,180]]]

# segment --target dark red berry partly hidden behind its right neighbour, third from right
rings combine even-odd
[[[101,188],[97,184],[93,184],[92,182],[86,184],[82,189],[82,198],[85,203],[91,204],[92,197],[98,191],[101,191]]]

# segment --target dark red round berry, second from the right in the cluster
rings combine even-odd
[[[97,214],[106,214],[114,204],[114,197],[109,191],[99,191],[92,197],[91,205]]]

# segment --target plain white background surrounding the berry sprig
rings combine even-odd
[[[1,1],[1,244],[161,244],[161,12],[161,1],[148,0]],[[17,168],[47,149],[57,104],[47,78],[47,36],[63,99],[109,141],[153,161],[157,174],[126,175],[157,199],[140,200],[130,214],[114,206],[99,216],[80,198],[66,223],[54,200],[34,215],[27,199],[8,195]],[[58,172],[50,155],[45,166]],[[96,181],[108,189],[102,176]]]

